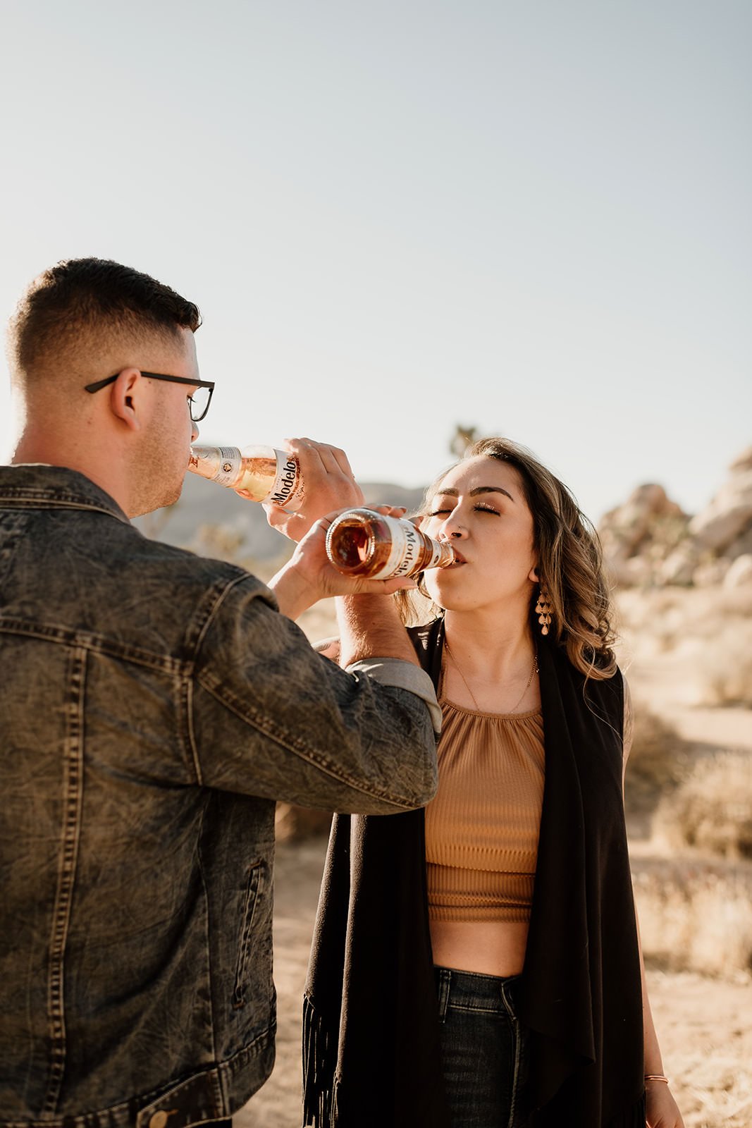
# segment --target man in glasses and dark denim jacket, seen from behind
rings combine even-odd
[[[180,493],[212,391],[198,324],[168,287],[98,259],[45,272],[11,323],[0,1123],[15,1128],[231,1116],[274,1058],[275,800],[392,813],[435,787],[435,697],[399,624],[384,613],[381,660],[354,638],[345,672],[291,622],[399,582],[334,572],[326,520],[268,588],[130,523]],[[297,449],[317,512],[361,500],[340,451]]]

